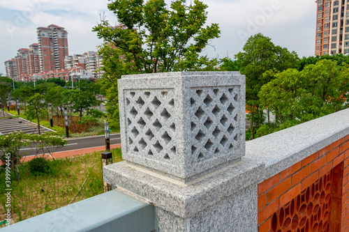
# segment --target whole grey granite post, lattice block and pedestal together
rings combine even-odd
[[[245,77],[169,72],[119,82],[119,190],[156,206],[158,231],[256,231],[261,165],[245,154]]]

